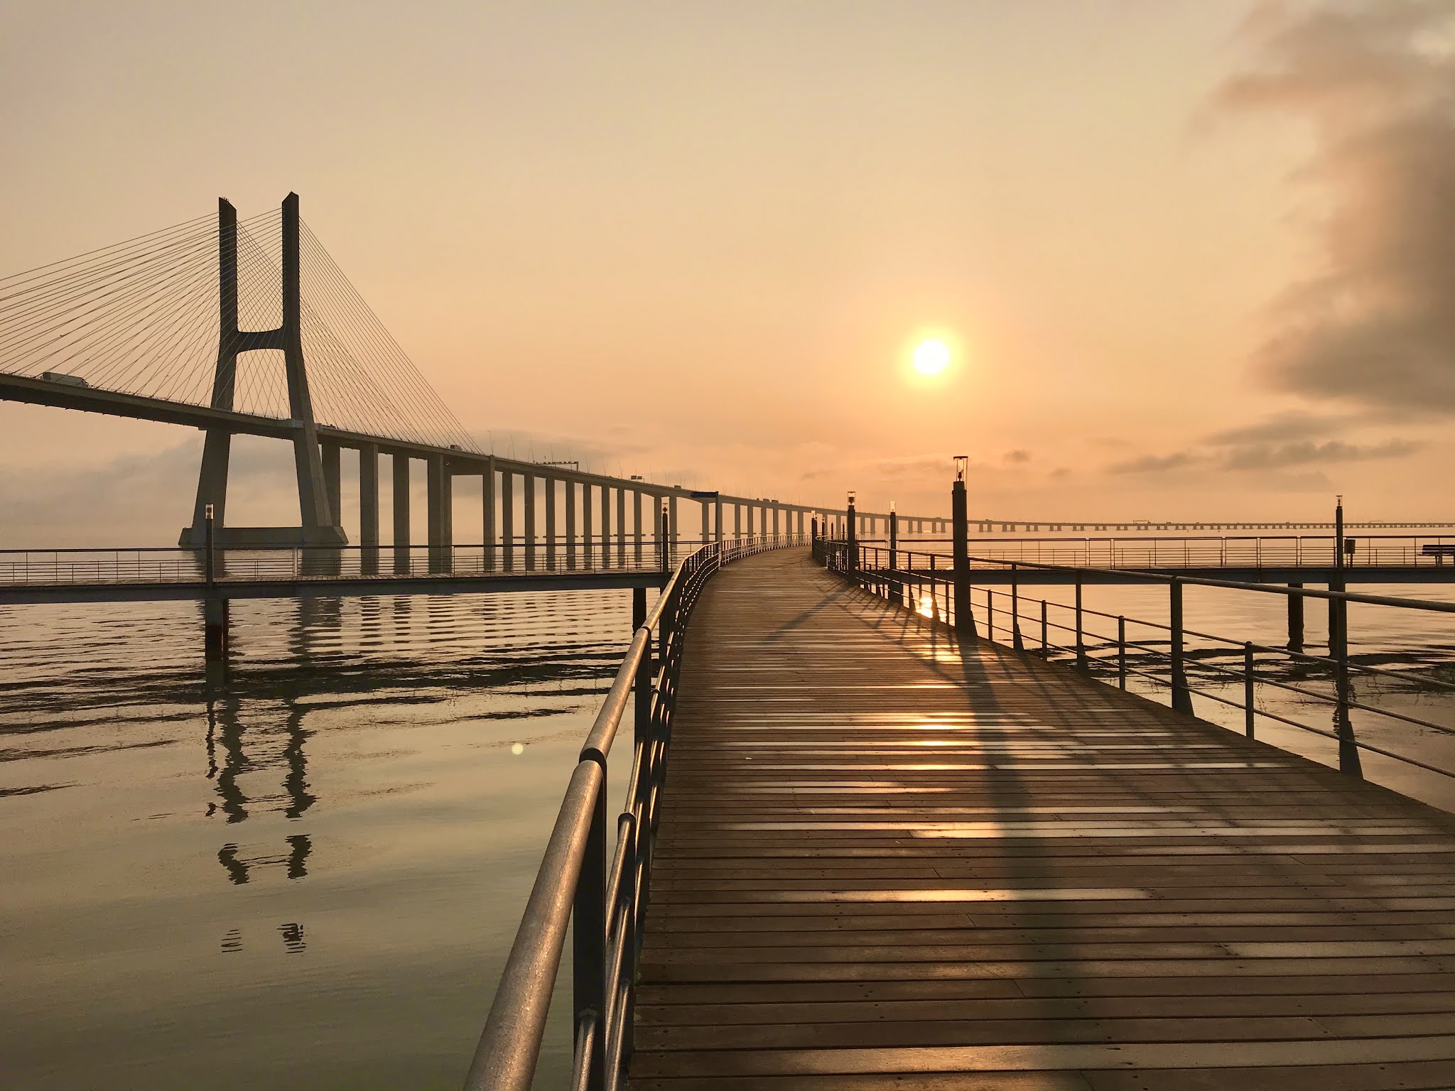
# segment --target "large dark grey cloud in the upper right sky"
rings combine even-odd
[[[1259,367],[1314,397],[1455,413],[1455,9],[1260,4],[1225,111],[1310,122],[1323,268],[1270,308]]]

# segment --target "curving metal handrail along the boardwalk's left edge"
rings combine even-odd
[[[572,925],[572,1088],[613,1091],[631,1050],[631,1005],[652,845],[677,710],[685,623],[725,564],[802,546],[803,535],[709,543],[684,557],[642,618],[582,743],[515,943],[505,962],[466,1091],[527,1091]],[[656,655],[652,655],[656,633]],[[607,857],[607,762],[631,698],[631,775]]]

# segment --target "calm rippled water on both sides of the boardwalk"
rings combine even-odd
[[[1085,605],[1165,621],[1157,588],[1088,588]],[[1272,596],[1189,589],[1186,612],[1286,639]],[[1310,604],[1315,655],[1324,617]],[[0,1082],[457,1087],[629,626],[627,592],[243,602],[228,675],[208,679],[192,604],[0,610]],[[1455,679],[1455,618],[1355,608],[1350,640]],[[1358,697],[1455,724],[1455,700],[1417,685]],[[1272,687],[1259,701],[1328,726]],[[1452,736],[1355,726],[1455,765]],[[1317,736],[1259,730],[1334,759]],[[1445,778],[1366,770],[1455,809]],[[565,1081],[563,1014],[541,1087]]]

